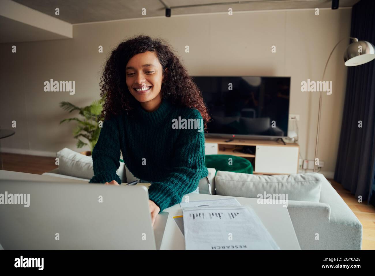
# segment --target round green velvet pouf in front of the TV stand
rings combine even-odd
[[[230,160],[229,158],[232,158]],[[205,156],[205,166],[214,168],[217,171],[242,172],[245,174],[253,173],[253,165],[243,157],[229,154],[210,154]],[[216,175],[216,173],[215,173]]]

